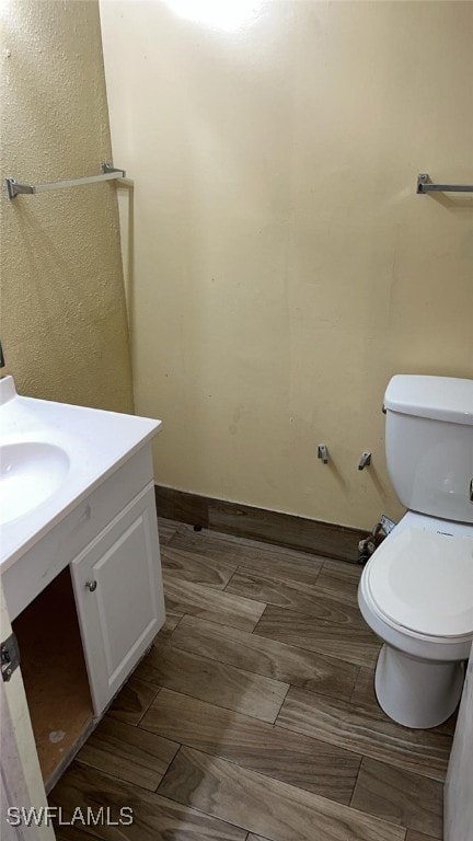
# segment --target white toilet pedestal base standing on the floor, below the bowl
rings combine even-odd
[[[462,661],[415,659],[384,644],[378,657],[374,689],[390,718],[405,727],[427,729],[454,712],[463,680]]]

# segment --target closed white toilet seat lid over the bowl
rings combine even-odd
[[[396,625],[429,636],[473,633],[473,538],[394,530],[367,578],[378,610]]]

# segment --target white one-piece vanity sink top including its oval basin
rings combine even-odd
[[[160,426],[152,418],[24,398],[13,377],[0,378],[0,574]]]

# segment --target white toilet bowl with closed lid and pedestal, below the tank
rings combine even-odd
[[[406,727],[441,724],[460,700],[473,640],[473,527],[408,512],[365,567],[358,603],[384,643],[380,706]]]

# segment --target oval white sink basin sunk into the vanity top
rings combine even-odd
[[[37,508],[62,484],[69,457],[44,441],[21,441],[0,447],[0,523]]]

